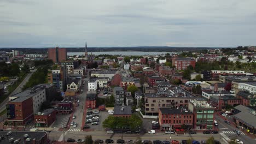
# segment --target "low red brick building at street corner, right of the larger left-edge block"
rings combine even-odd
[[[35,127],[49,127],[56,121],[56,110],[47,109],[34,115]]]

